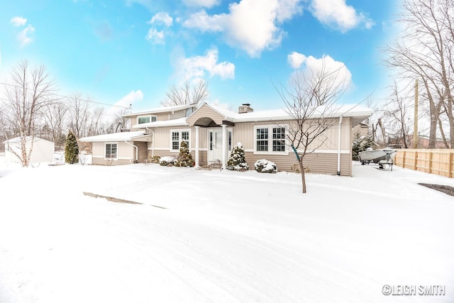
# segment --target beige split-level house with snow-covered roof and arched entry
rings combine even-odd
[[[353,127],[372,114],[358,106],[340,106],[331,119],[328,138],[314,153],[306,155],[305,166],[310,172],[351,175],[351,142]],[[226,166],[233,146],[240,142],[248,163],[267,159],[277,169],[290,171],[297,163],[285,138],[285,129],[292,117],[284,110],[254,111],[243,104],[238,112],[214,104],[172,106],[127,114],[131,131],[82,138],[93,143],[93,163],[123,164],[141,162],[158,155],[177,156],[179,145],[187,141],[196,167],[221,160]],[[314,119],[317,117],[314,116]]]

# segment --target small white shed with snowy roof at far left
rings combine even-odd
[[[33,140],[33,141],[32,141]],[[30,162],[52,162],[54,160],[55,143],[39,137],[26,137],[26,150],[27,153],[32,147]],[[4,141],[5,145],[5,160],[6,162],[21,163],[21,159],[17,155],[22,156],[21,153],[21,137],[16,137]],[[15,153],[17,155],[15,155]]]

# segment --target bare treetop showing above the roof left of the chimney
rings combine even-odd
[[[186,80],[181,87],[172,85],[166,93],[165,101],[162,101],[163,106],[198,104],[208,98],[208,83],[204,80],[199,80],[194,85],[189,84]]]

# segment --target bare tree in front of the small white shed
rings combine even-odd
[[[9,145],[7,148],[24,167],[30,164],[35,126],[53,91],[54,82],[49,79],[43,65],[30,68],[28,61],[22,61],[13,67],[11,84],[6,86],[4,119],[19,133],[21,150],[13,150]]]

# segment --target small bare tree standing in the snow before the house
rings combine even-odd
[[[320,148],[328,137],[325,132],[337,127],[336,101],[345,92],[345,79],[339,71],[323,66],[319,71],[297,72],[288,86],[277,89],[291,117],[285,136],[297,157],[302,192],[306,193],[304,158]]]

